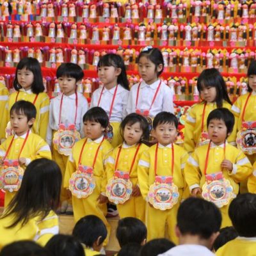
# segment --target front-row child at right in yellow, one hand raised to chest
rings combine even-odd
[[[238,194],[238,183],[252,173],[248,158],[226,141],[234,122],[234,115],[228,109],[214,109],[207,118],[211,141],[196,148],[185,166],[185,178],[191,194],[202,195],[220,207],[221,227],[231,225],[228,218],[230,200]]]

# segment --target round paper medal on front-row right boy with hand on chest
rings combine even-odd
[[[233,193],[230,181],[223,179],[213,180],[210,183],[205,182],[202,197],[221,208],[224,205],[227,205],[232,198],[236,197],[236,195]]]

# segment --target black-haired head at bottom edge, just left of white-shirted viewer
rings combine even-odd
[[[174,246],[175,244],[168,239],[153,239],[142,246],[140,256],[157,256],[161,253],[167,252]]]

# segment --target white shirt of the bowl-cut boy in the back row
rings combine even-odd
[[[46,140],[49,145],[52,142],[52,130],[57,131],[59,128],[60,118],[60,103],[62,94],[52,99],[50,102],[49,125],[47,129]],[[77,117],[76,130],[84,137],[83,132],[83,116],[88,110],[88,102],[81,93],[77,93]],[[63,95],[63,102],[61,108],[62,124],[74,124],[76,115],[76,93],[72,95]]]

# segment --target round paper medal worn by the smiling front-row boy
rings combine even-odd
[[[160,183],[152,184],[148,191],[148,201],[156,209],[162,211],[172,209],[179,198],[178,187],[175,184]]]

